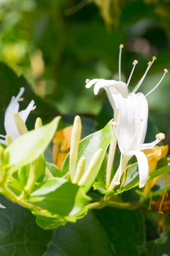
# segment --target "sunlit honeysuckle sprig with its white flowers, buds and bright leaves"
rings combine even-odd
[[[82,124],[77,115],[72,127],[70,152],[60,168],[54,163],[46,162],[44,156],[45,149],[54,138],[60,117],[46,125],[42,125],[41,119],[37,118],[34,130],[28,131],[25,121],[35,109],[35,103],[31,100],[25,110],[19,111],[24,88],[20,89],[16,97],[12,97],[7,107],[4,115],[7,135],[1,135],[3,139],[0,140],[3,144],[0,145],[0,192],[10,201],[30,209],[41,228],[58,228],[66,225],[66,222],[76,222],[86,216],[90,209],[110,206],[135,210],[142,207],[148,200],[148,189],[144,188],[147,180],[155,180],[170,171],[169,165],[163,165],[148,173],[149,165],[145,154],[145,150],[153,148],[165,135],[159,133],[155,141],[144,142],[148,125],[146,97],[160,85],[168,71],[164,70],[160,82],[148,94],[137,93],[156,59],[154,57],[148,62],[136,87],[129,92],[128,85],[138,62],[133,61],[127,83],[122,82],[122,48],[123,45],[119,52],[119,81],[86,80],[86,88],[95,85],[95,95],[100,88],[107,92],[113,107],[113,119],[103,129],[81,139]],[[62,130],[58,134],[62,134]],[[55,147],[57,153],[60,152],[60,144]],[[117,144],[119,159],[116,156]],[[136,156],[136,162],[128,165],[132,156]],[[115,159],[119,162],[118,168],[113,166]],[[122,201],[122,192],[138,185],[140,200]],[[93,189],[97,189],[100,195],[98,200],[92,198]]]

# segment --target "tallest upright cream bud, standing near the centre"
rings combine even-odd
[[[72,128],[71,147],[69,155],[69,173],[71,180],[75,176],[75,165],[78,158],[78,142],[81,139],[81,118],[77,115],[75,117],[74,125]]]

